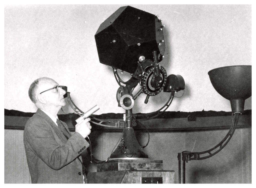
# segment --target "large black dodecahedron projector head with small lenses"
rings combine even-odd
[[[162,27],[153,14],[131,6],[120,7],[95,34],[100,63],[134,73],[140,56],[154,61],[153,51],[164,54]]]

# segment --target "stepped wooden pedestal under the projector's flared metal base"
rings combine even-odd
[[[88,183],[174,183],[174,171],[164,171],[162,160],[149,159],[112,159],[86,177]]]

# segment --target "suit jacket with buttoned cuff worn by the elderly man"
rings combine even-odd
[[[32,183],[83,183],[78,157],[88,142],[77,132],[67,140],[40,109],[25,125],[24,146]]]

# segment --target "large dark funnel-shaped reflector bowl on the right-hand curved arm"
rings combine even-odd
[[[208,75],[214,89],[230,100],[232,113],[242,113],[244,101],[252,96],[252,66],[215,68],[210,70]]]

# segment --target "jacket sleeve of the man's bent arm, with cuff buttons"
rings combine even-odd
[[[56,139],[59,139],[58,142]],[[75,160],[89,144],[81,134],[75,132],[66,143],[44,119],[28,120],[24,130],[27,147],[43,160],[50,168],[59,170]],[[26,147],[26,146],[25,146]]]

